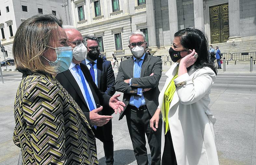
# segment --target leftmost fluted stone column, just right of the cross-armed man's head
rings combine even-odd
[[[156,47],[155,34],[155,5],[154,0],[146,1],[147,26],[148,26],[148,42],[150,47]]]

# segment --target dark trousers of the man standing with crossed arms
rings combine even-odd
[[[138,165],[147,165],[148,156],[146,149],[145,134],[151,151],[151,164],[161,164],[161,127],[162,120],[159,120],[158,129],[154,132],[150,128],[149,120],[151,115],[148,110],[136,110],[128,105],[126,108],[126,120],[129,134],[132,141],[133,152]]]

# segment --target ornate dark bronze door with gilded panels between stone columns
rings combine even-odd
[[[228,40],[228,4],[211,6],[210,8],[211,43],[220,43]]]

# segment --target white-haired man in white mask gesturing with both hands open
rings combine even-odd
[[[113,85],[110,85],[110,89],[108,89],[106,92],[102,92],[98,89],[98,87],[95,84],[95,79],[92,78],[91,73],[86,66],[86,64],[81,63],[81,61],[86,59],[87,52],[89,54],[89,51],[99,50],[99,47],[96,45],[88,46],[86,41],[83,40],[83,37],[81,33],[73,26],[63,26],[63,29],[66,32],[66,35],[68,37],[68,44],[73,48],[73,60],[68,70],[59,73],[56,78],[61,83],[61,85],[68,91],[68,93],[73,97],[75,102],[78,104],[78,106],[81,108],[81,110],[84,112],[86,118],[88,119],[88,122],[94,132],[94,135],[96,137],[99,137],[99,134],[101,136],[105,137],[105,134],[110,134],[110,139],[112,139],[112,143],[110,142],[110,146],[112,148],[107,148],[109,155],[112,155],[112,157],[108,158],[106,156],[106,159],[108,162],[106,164],[113,164],[114,158],[113,158],[113,136],[112,136],[112,123],[111,119],[113,116],[111,116],[114,112],[117,113],[117,111],[120,113],[123,110],[123,106],[125,104],[122,101],[119,101],[117,97],[119,95],[114,95],[115,88],[115,77],[114,72],[113,76],[110,74],[110,77],[112,76],[112,79],[109,80],[112,81]],[[86,48],[85,45],[87,45],[89,48]],[[89,42],[90,45],[90,42]],[[94,47],[94,48],[93,48]],[[98,55],[99,56],[99,55]],[[98,60],[99,62],[100,60]],[[98,67],[102,68],[102,67]],[[110,71],[111,72],[111,71]],[[104,79],[106,77],[103,72],[97,72],[99,77],[101,79]],[[107,81],[107,80],[105,80]],[[101,81],[98,81],[98,86],[101,87]],[[107,87],[106,87],[107,88]],[[107,115],[103,115],[102,109],[103,107],[107,107],[107,112],[104,113]],[[105,110],[106,108],[104,108]],[[115,109],[115,111],[113,110]],[[110,123],[110,124],[109,124]],[[101,131],[101,126],[107,124],[111,126],[111,130],[109,132],[107,131]],[[70,126],[72,127],[72,123],[70,123]],[[106,129],[107,130],[107,129]],[[79,137],[83,138],[83,137]],[[111,141],[111,140],[110,140]],[[80,145],[80,144],[79,144]],[[111,151],[112,149],[112,151]],[[105,146],[104,146],[105,150]],[[111,153],[112,152],[112,153]],[[81,158],[83,159],[83,158]]]

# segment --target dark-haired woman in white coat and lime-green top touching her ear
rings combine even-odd
[[[207,39],[198,29],[179,30],[169,54],[176,64],[166,73],[159,106],[150,120],[156,131],[162,116],[162,165],[218,165],[216,119],[208,108],[217,70],[209,63]]]

